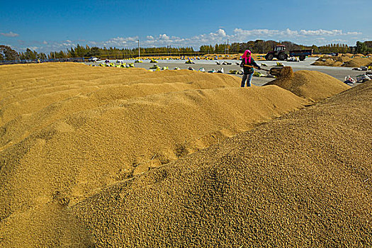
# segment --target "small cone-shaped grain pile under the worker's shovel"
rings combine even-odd
[[[291,76],[290,72],[285,74]],[[293,77],[278,77],[266,85],[280,86],[310,101],[319,101],[350,88],[334,77],[315,71],[298,71]]]

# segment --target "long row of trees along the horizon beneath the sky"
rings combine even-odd
[[[275,45],[286,45],[287,50],[302,50],[312,49],[315,54],[326,54],[329,52],[356,52],[356,53],[372,53],[372,41],[356,42],[356,47],[349,47],[346,44],[329,44],[317,47],[316,45],[305,46],[291,43],[290,41],[276,42],[274,40],[254,40],[247,43],[232,43],[232,44],[215,44],[202,45],[199,51],[193,50],[193,47],[140,47],[140,54],[149,55],[203,55],[206,53],[243,53],[249,49],[253,53],[265,54],[273,49]],[[137,48],[116,48],[116,47],[89,47],[77,45],[71,47],[67,51],[50,52],[45,55],[43,52],[36,52],[29,48],[26,52],[16,52],[11,47],[0,45],[0,60],[47,60],[47,59],[62,59],[73,57],[101,57],[107,59],[123,59],[128,57],[137,57]]]

